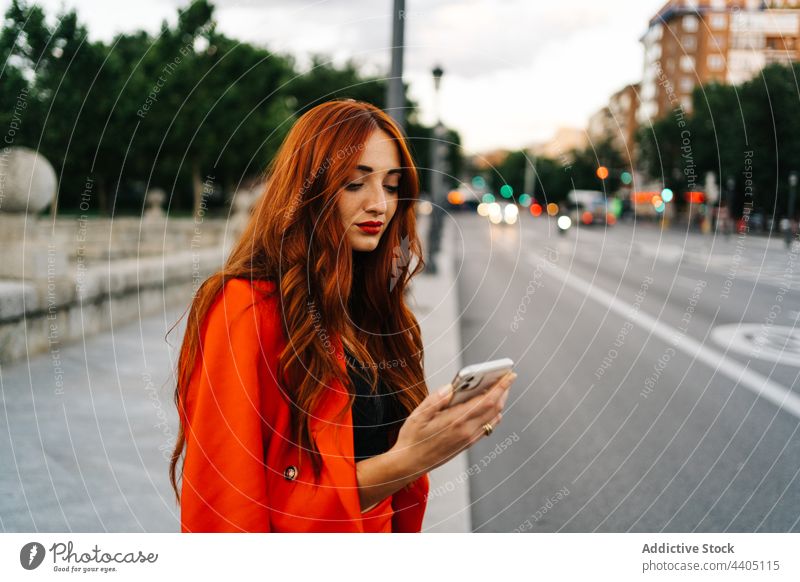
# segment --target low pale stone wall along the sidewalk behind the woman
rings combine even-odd
[[[238,235],[219,219],[0,222],[0,363],[188,307]]]

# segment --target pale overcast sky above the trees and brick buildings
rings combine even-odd
[[[30,2],[30,0],[29,0]],[[34,3],[34,2],[31,2]],[[90,37],[157,33],[188,0],[38,0],[51,17],[75,8]],[[10,0],[0,0],[5,13]],[[664,0],[406,0],[404,80],[433,124],[431,70],[444,70],[438,109],[465,153],[516,149],[585,128],[609,96],[641,79],[639,38]],[[391,0],[217,0],[227,36],[387,74]]]

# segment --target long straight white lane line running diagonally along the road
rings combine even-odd
[[[716,372],[727,376],[734,383],[747,388],[756,396],[768,400],[781,410],[800,419],[800,396],[790,389],[773,382],[763,374],[751,370],[737,360],[703,345],[689,335],[682,334],[677,328],[662,323],[640,309],[634,309],[631,305],[620,301],[611,293],[597,285],[592,285],[590,282],[561,267],[557,267],[550,261],[540,259],[535,255],[529,256],[529,260],[534,266],[541,266],[544,270],[554,274],[565,285],[586,294],[631,323],[639,325],[645,331],[649,331],[652,335],[664,340],[675,349],[685,352],[687,355],[715,369]],[[676,337],[681,338],[679,342],[673,342]]]

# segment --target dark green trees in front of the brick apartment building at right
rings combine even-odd
[[[800,64],[774,64],[740,86],[697,87],[691,115],[676,109],[640,130],[642,168],[676,192],[702,189],[710,172],[723,192],[733,186],[735,216],[745,205],[783,216],[800,171],[798,76]]]

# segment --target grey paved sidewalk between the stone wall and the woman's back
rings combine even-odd
[[[176,309],[0,368],[0,530],[174,532]]]

